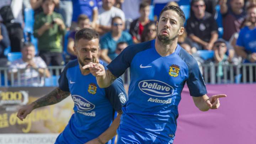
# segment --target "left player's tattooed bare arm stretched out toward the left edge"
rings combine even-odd
[[[32,102],[29,105],[23,106],[18,110],[17,117],[23,121],[24,118],[28,114],[30,114],[34,109],[38,107],[53,105],[55,103],[58,103],[62,101],[64,98],[68,97],[70,95],[70,92],[62,91],[60,88],[56,88],[53,91],[51,91],[49,94],[39,98],[38,100]]]

